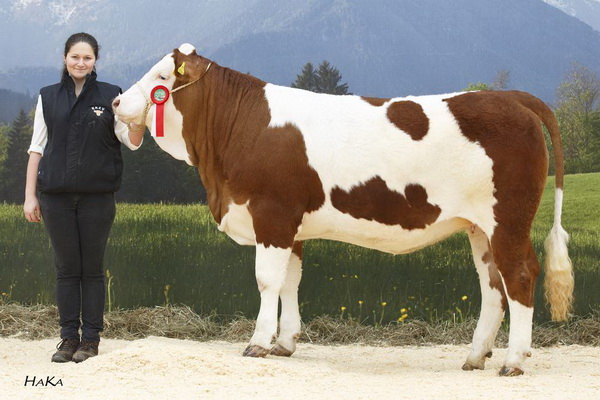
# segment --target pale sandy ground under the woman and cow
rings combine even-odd
[[[56,340],[0,339],[3,399],[600,399],[600,348],[534,349],[526,375],[460,369],[467,346],[300,344],[291,358],[241,356],[244,343],[105,339],[81,364],[50,362]],[[62,385],[28,386],[26,379]],[[52,377],[54,377],[52,379]]]

